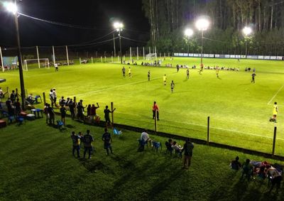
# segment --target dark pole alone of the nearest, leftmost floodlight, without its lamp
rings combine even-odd
[[[15,1],[16,5],[16,1]],[[15,17],[15,27],[16,27],[16,40],[18,43],[18,72],[20,74],[20,85],[21,85],[21,99],[22,99],[22,109],[25,109],[26,104],[26,93],[25,93],[25,85],[23,82],[23,64],[22,64],[22,53],[21,53],[21,41],[20,41],[20,33],[18,31],[18,12],[14,14]]]

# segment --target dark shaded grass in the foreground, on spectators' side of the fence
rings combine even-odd
[[[106,156],[102,128],[77,121],[70,128],[70,118],[67,122],[62,132],[46,126],[45,119],[1,129],[0,200],[283,200],[283,187],[278,195],[275,189],[269,194],[267,180],[262,185],[240,180],[241,171],[229,168],[236,156],[241,163],[279,161],[195,144],[192,165],[182,170],[182,160],[165,155],[165,147],[136,152],[138,133],[113,136],[114,155]],[[70,133],[86,129],[94,136],[95,152],[91,160],[78,160]]]

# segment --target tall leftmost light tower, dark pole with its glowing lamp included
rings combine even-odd
[[[20,41],[20,33],[18,31],[18,8],[17,8],[16,0],[14,1],[14,3],[5,2],[4,7],[6,8],[7,11],[13,13],[14,18],[15,18],[16,40],[17,40],[17,44],[18,44],[18,72],[20,74],[20,85],[21,85],[21,101],[22,101],[22,109],[25,109],[26,94],[25,94],[25,85],[23,83],[21,41]]]

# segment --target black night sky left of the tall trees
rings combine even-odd
[[[0,0],[2,1],[2,0]],[[3,1],[2,1],[3,2]],[[141,0],[23,0],[18,2],[18,11],[28,16],[48,21],[68,23],[91,29],[57,26],[42,21],[35,21],[25,16],[18,18],[21,45],[71,45],[94,40],[110,33],[114,28],[114,19],[121,19],[125,29],[121,36],[147,41],[149,38],[148,19],[141,9]],[[109,35],[96,42],[112,38]],[[143,45],[143,43],[123,40],[124,47]],[[145,45],[145,44],[144,44]],[[13,15],[0,7],[0,46],[16,46]],[[96,45],[101,50],[108,50],[112,42]]]

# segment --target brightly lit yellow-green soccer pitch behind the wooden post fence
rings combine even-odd
[[[220,70],[219,79],[215,70],[199,74],[199,58],[166,58],[162,65],[173,67],[148,67],[124,65],[126,77],[122,77],[122,65],[117,63],[94,63],[51,69],[31,69],[24,72],[28,93],[48,94],[53,87],[61,96],[83,99],[84,104],[99,102],[98,114],[114,102],[115,123],[154,128],[151,107],[156,101],[160,107],[158,131],[171,134],[207,138],[207,116],[210,116],[210,141],[231,146],[251,148],[271,153],[273,129],[277,125],[275,153],[284,155],[283,99],[284,63],[266,60],[204,59],[204,65],[239,67],[239,72]],[[175,65],[189,65],[190,79],[186,70],[177,72]],[[192,70],[191,66],[197,65]],[[132,77],[128,77],[131,67]],[[251,83],[252,72],[245,67],[256,68],[256,83]],[[151,81],[147,73],[151,70]],[[163,85],[163,75],[167,85]],[[5,89],[19,87],[18,71],[1,73],[7,82]],[[173,94],[170,82],[175,82]],[[48,97],[47,97],[48,99]],[[273,102],[278,102],[278,123],[268,121],[272,116]]]

